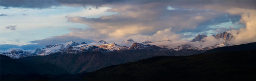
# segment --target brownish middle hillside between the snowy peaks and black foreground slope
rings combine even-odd
[[[83,52],[78,54],[54,53],[49,56],[34,56],[20,58],[20,61],[33,61],[38,63],[50,63],[62,67],[70,73],[79,73],[82,71],[93,72],[103,67],[117,65],[121,63],[134,62],[141,59],[154,56],[180,56],[194,55],[203,50],[122,50],[109,53],[101,52]]]

